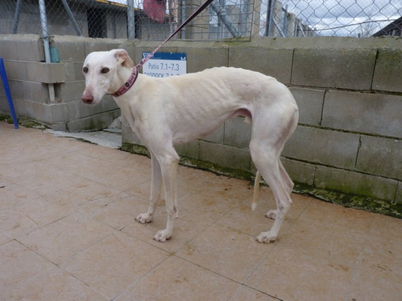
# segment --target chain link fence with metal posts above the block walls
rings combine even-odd
[[[2,0],[0,34],[163,40],[204,0]],[[215,0],[176,39],[401,36],[402,0]]]

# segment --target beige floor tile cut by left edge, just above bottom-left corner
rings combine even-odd
[[[0,245],[0,299],[20,283],[54,265],[21,243],[12,240]]]

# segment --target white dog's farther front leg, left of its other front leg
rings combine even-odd
[[[162,189],[162,173],[158,160],[155,155],[151,154],[151,198],[147,213],[141,213],[136,217],[136,221],[145,224],[152,222],[152,218],[160,202],[160,194]]]

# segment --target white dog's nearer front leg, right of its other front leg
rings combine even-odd
[[[167,224],[166,229],[156,233],[154,237],[156,241],[164,242],[172,237],[174,219],[178,216],[176,206],[176,174],[178,162],[179,157],[176,152],[174,152],[172,156],[163,156],[159,159],[165,189]]]

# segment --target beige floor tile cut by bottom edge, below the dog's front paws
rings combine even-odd
[[[176,256],[166,259],[115,301],[228,300],[240,286]]]

